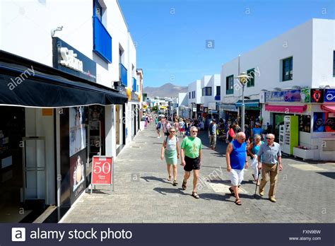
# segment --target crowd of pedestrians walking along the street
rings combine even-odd
[[[187,180],[193,173],[192,197],[199,199],[196,186],[199,180],[199,170],[202,160],[202,143],[198,137],[198,132],[204,130],[204,122],[201,119],[182,119],[175,117],[170,123],[165,117],[155,119],[158,138],[163,132],[164,140],[160,151],[160,158],[165,159],[167,165],[167,180],[172,181],[172,185],[177,186],[177,163],[184,168],[182,189],[187,189]],[[250,157],[252,177],[259,187],[259,195],[264,196],[266,183],[270,181],[269,200],[276,202],[276,184],[278,171],[283,170],[281,165],[281,148],[274,142],[274,134],[266,134],[266,141],[261,141],[260,124],[250,129],[245,127],[242,132],[240,126],[235,122],[230,124],[226,133],[228,144],[225,152],[227,172],[229,173],[231,186],[230,194],[235,197],[235,204],[242,205],[239,196],[239,187],[244,180],[244,170],[249,167],[248,156]],[[208,138],[210,148],[216,149],[216,138],[219,127],[216,119],[212,119],[208,125]],[[178,136],[182,138],[179,140]],[[180,144],[181,141],[181,144]],[[172,169],[172,170],[171,170]]]

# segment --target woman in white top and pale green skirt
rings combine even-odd
[[[169,129],[169,136],[163,141],[163,146],[160,151],[160,159],[163,160],[165,157],[167,165],[167,173],[169,177],[168,181],[171,180],[171,165],[173,167],[173,186],[178,185],[177,183],[177,158],[180,158],[180,146],[176,134],[175,127]]]

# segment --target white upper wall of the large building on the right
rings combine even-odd
[[[331,39],[331,35],[333,39]],[[321,38],[320,38],[321,37]],[[314,42],[314,43],[313,43]],[[242,54],[240,72],[255,69],[254,87],[245,86],[245,95],[258,99],[261,89],[292,88],[292,86],[319,87],[322,74],[332,77],[334,50],[334,21],[312,19],[288,30],[273,40]],[[293,80],[282,81],[281,60],[293,57]],[[313,62],[313,64],[312,64]],[[242,99],[242,89],[235,80],[234,94],[225,94],[226,77],[237,76],[238,59],[223,64],[221,69],[221,101],[236,102]]]

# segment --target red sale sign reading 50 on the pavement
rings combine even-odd
[[[112,185],[112,157],[93,156],[92,185]]]

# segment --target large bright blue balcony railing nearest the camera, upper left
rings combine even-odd
[[[96,16],[93,16],[93,52],[112,63],[112,37]]]

